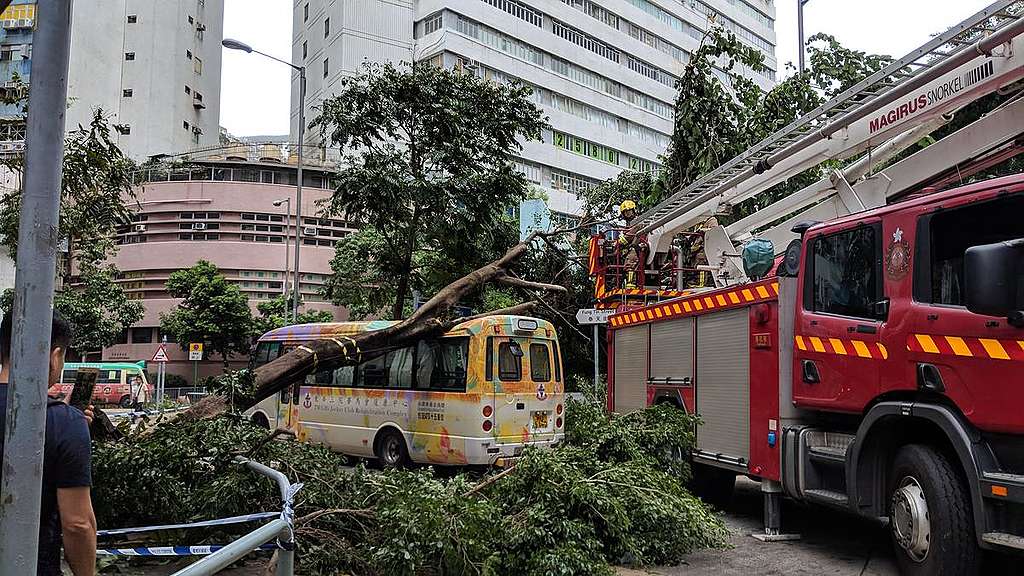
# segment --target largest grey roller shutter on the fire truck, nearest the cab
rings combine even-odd
[[[700,452],[750,461],[750,354],[748,308],[697,318]]]

